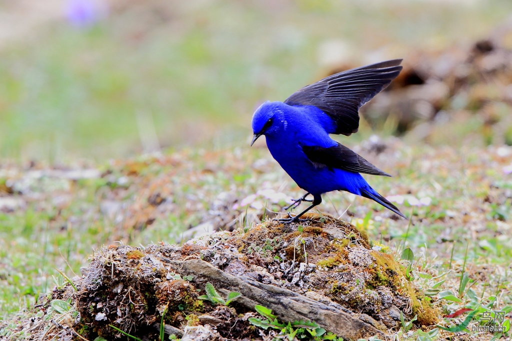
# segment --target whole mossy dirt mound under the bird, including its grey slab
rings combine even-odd
[[[121,330],[158,339],[164,321],[165,334],[183,339],[271,339],[278,331],[251,323],[262,317],[255,305],[285,323],[312,321],[352,339],[383,336],[399,326],[400,313],[417,315],[420,325],[437,322],[392,255],[372,248],[351,224],[309,217],[303,224],[217,232],[183,246],[103,247],[73,279],[77,291],[70,284],[53,291],[28,326],[31,335],[114,339],[125,337]],[[205,290],[209,299],[201,296]],[[226,305],[230,292],[241,295]],[[56,317],[55,302],[69,305],[60,311],[66,319]]]

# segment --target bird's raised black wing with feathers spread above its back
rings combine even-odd
[[[332,134],[350,135],[359,128],[359,108],[398,76],[401,59],[357,67],[307,85],[288,97],[288,105],[314,105],[336,124]]]

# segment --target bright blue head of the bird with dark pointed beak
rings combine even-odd
[[[252,144],[258,140],[261,135],[269,136],[286,128],[282,102],[265,102],[252,115]]]

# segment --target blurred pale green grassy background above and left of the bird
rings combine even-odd
[[[512,11],[509,0],[38,3],[47,10],[0,0],[2,160],[245,143],[267,99],[346,63],[471,43]]]

